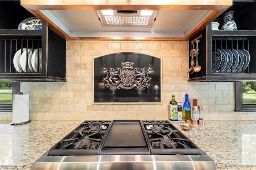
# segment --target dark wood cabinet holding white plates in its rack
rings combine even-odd
[[[41,30],[18,29],[33,17],[20,1],[0,0],[0,17],[0,80],[66,81],[65,39],[44,23]]]

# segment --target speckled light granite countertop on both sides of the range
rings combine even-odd
[[[31,121],[10,125],[0,121],[0,169],[30,170],[32,163],[82,121]],[[256,170],[256,121],[205,121],[181,129],[217,163],[218,169]]]

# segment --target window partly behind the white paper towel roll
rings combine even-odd
[[[20,82],[0,81],[0,111],[12,111],[12,95],[20,92]]]

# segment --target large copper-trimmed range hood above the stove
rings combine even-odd
[[[21,5],[66,40],[184,41],[232,6],[232,0],[21,0]],[[148,27],[109,27],[101,23],[101,10],[122,11],[127,18],[134,15],[130,11],[157,12]]]

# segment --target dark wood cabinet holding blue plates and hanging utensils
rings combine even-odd
[[[228,11],[234,11],[237,31],[212,30],[209,24],[190,39],[191,43],[202,35],[198,43],[198,64],[202,68],[189,73],[189,82],[256,80],[256,1],[233,1]],[[222,15],[216,21],[221,29]],[[196,57],[194,60],[196,63]]]

